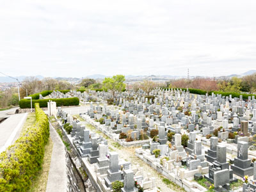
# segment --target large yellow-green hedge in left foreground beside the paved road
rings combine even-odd
[[[49,122],[36,104],[36,123],[22,132],[13,145],[0,154],[0,191],[28,191],[31,179],[42,168]]]

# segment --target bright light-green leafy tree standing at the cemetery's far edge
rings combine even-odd
[[[116,75],[113,77],[105,77],[102,82],[102,88],[104,91],[111,91],[113,98],[115,98],[115,92],[121,92],[125,89],[125,77],[123,75]]]

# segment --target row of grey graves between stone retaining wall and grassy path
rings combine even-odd
[[[143,172],[139,165],[132,166],[130,162],[119,159],[117,152],[109,150],[108,141],[86,129],[83,122],[74,120],[61,108],[58,108],[58,116],[64,120],[64,125],[72,125],[72,131],[67,134],[67,138],[101,191],[110,192],[116,180],[124,182],[124,188],[121,189],[123,192],[139,189],[147,192],[160,191],[150,173]]]

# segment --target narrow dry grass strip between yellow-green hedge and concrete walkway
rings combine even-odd
[[[36,174],[35,179],[31,180],[31,188],[28,192],[42,192],[46,190],[48,174],[51,165],[53,142],[51,138],[47,145],[45,145],[44,161],[42,164],[42,170]]]

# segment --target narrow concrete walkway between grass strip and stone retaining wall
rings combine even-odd
[[[67,191],[67,168],[65,146],[60,136],[50,123],[50,136],[53,142],[51,166],[49,170],[46,192]]]

